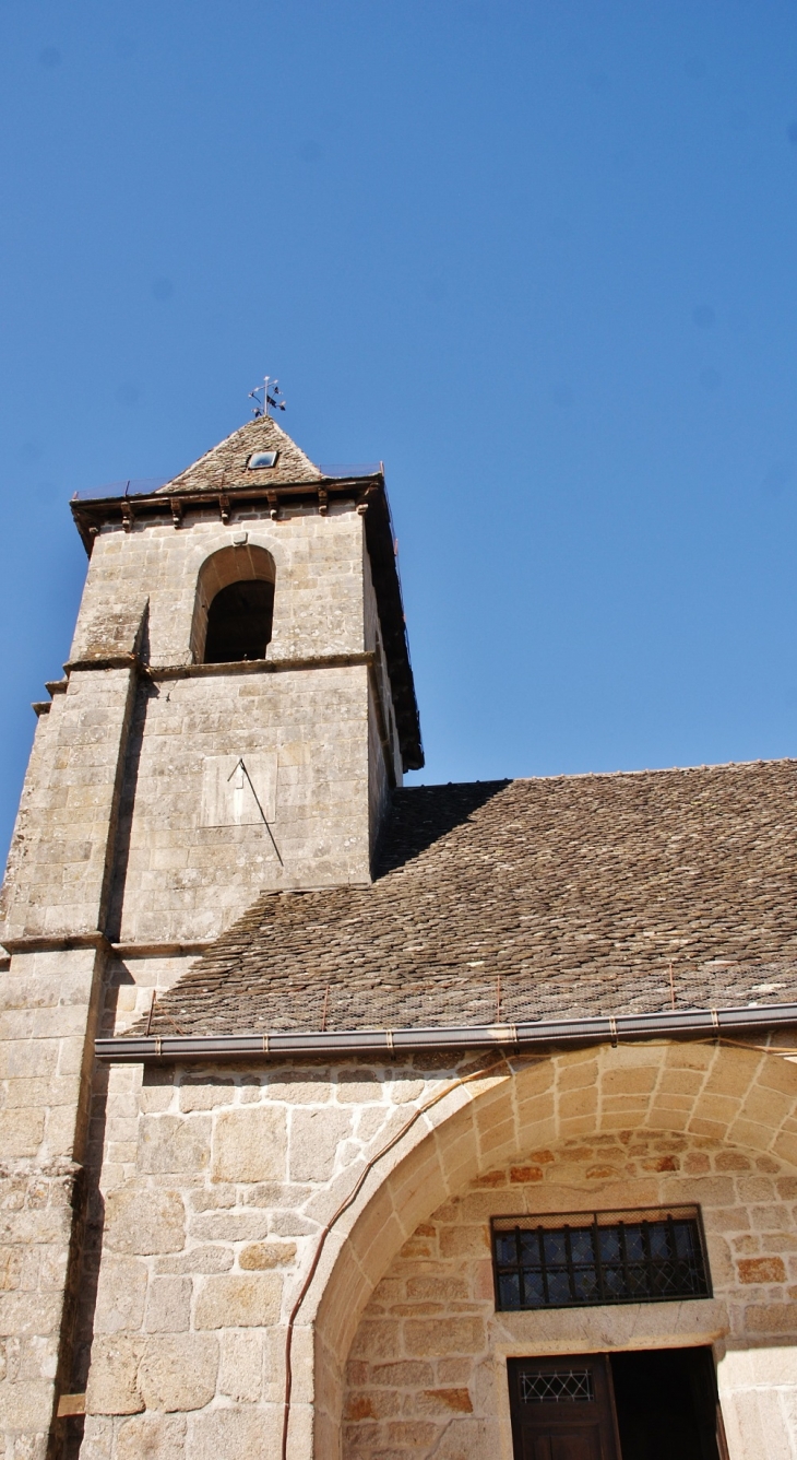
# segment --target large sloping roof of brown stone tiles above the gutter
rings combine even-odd
[[[785,1003],[796,838],[797,761],[400,790],[369,888],[263,895],[152,1032]]]

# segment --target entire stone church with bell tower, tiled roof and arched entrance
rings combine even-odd
[[[73,515],[6,1460],[796,1460],[797,762],[403,788],[382,470],[267,416]]]

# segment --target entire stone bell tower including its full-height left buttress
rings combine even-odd
[[[366,883],[390,788],[423,764],[381,469],[326,473],[258,418],[158,491],[73,515],[89,572],[66,677],[35,707],[0,910],[9,1240],[38,1253],[0,1294],[22,1334],[0,1415],[26,1460],[69,1388],[104,983],[134,986],[133,1007],[260,892]]]

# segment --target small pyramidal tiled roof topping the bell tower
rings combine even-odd
[[[248,466],[255,451],[276,451],[270,467]],[[180,492],[219,492],[235,486],[258,486],[269,483],[321,482],[323,472],[309,460],[290,437],[280,431],[270,416],[257,416],[245,426],[234,431],[226,441],[206,451],[199,461],[185,467],[165,486],[159,496],[174,496]]]

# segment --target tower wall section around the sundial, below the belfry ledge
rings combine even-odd
[[[277,858],[261,823],[203,825],[204,756],[272,752]],[[127,756],[112,934],[216,937],[264,888],[368,882],[368,669],[142,682]]]

